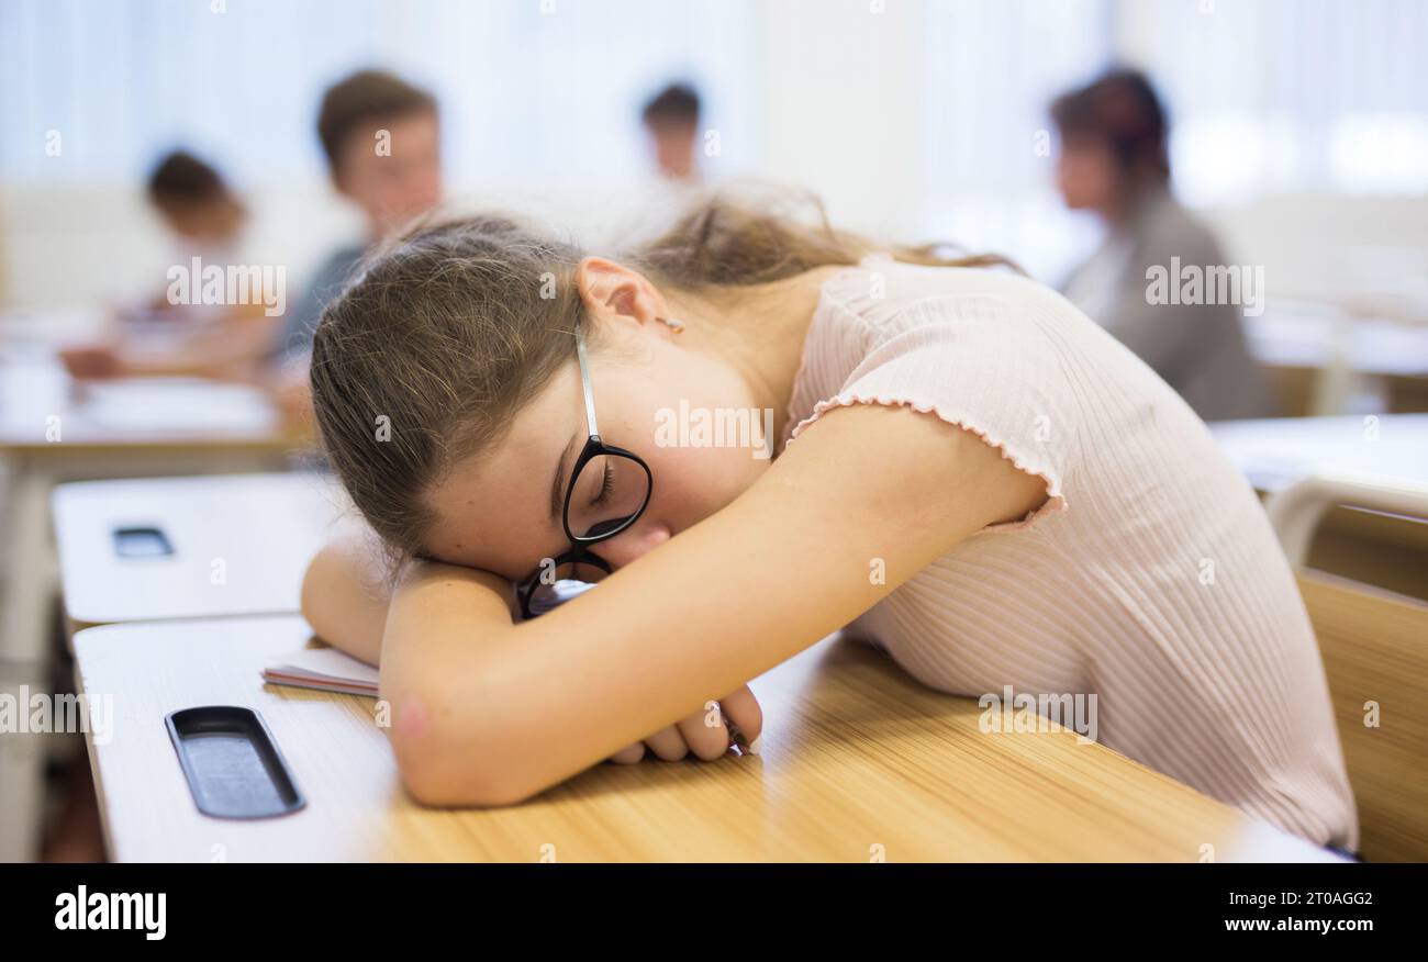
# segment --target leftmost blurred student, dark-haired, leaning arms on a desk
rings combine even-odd
[[[119,328],[110,337],[70,347],[61,360],[76,377],[244,377],[263,357],[280,320],[270,310],[280,303],[277,291],[260,285],[248,290],[243,303],[204,303],[201,271],[240,265],[247,208],[211,164],[187,150],[159,160],[147,196],[173,241],[173,268],[163,290],[116,311]],[[198,275],[193,275],[196,264]],[[187,284],[176,285],[177,274],[188,275]],[[271,281],[273,275],[258,271],[257,277]],[[160,324],[157,338],[154,323]]]

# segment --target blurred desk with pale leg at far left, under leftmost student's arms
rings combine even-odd
[[[80,388],[53,347],[0,344],[0,662],[47,674],[59,585],[50,492],[61,481],[274,471],[303,440],[253,390],[146,380]],[[14,735],[0,732],[0,752]],[[36,855],[43,758],[0,779],[0,861]]]

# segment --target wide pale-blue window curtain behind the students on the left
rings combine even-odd
[[[711,171],[740,173],[755,160],[751,3],[4,0],[0,173],[133,183],[186,144],[246,186],[320,178],[318,98],[364,66],[436,91],[456,190],[647,174],[638,111],[673,79],[705,96]]]

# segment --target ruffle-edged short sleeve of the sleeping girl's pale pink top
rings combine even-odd
[[[1032,320],[997,297],[938,297],[900,308],[868,341],[841,390],[814,405],[790,442],[837,407],[905,405],[977,434],[1045,482],[1040,508],[985,531],[1024,530],[1067,510],[1074,404],[1054,345]]]

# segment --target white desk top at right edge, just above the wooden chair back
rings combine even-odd
[[[1428,414],[1218,421],[1210,430],[1261,491],[1317,470],[1428,481]]]

